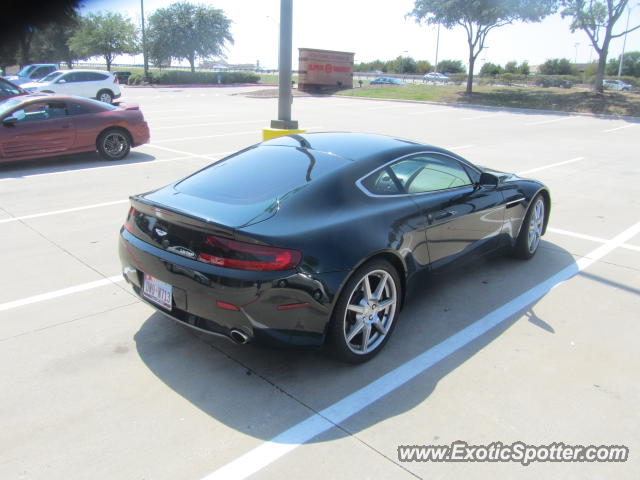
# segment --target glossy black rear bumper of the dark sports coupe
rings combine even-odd
[[[124,229],[119,254],[124,277],[134,292],[165,315],[199,331],[229,338],[238,329],[250,342],[277,346],[324,342],[334,298],[331,285],[344,275],[217,267],[157,248]],[[170,310],[142,295],[145,273],[172,286]],[[237,310],[221,308],[217,302]]]

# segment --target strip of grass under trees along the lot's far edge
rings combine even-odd
[[[587,90],[562,88],[474,87],[466,95],[464,86],[406,85],[363,87],[343,90],[337,95],[425,102],[531,108],[558,112],[640,116],[640,95],[605,92],[595,95]]]

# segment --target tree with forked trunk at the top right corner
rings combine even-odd
[[[571,31],[584,31],[598,53],[598,71],[593,88],[596,93],[602,93],[611,40],[640,28],[640,25],[636,25],[626,31],[613,33],[629,0],[561,0],[560,3],[563,6],[562,16],[571,17]]]

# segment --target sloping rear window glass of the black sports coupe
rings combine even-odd
[[[346,163],[349,160],[314,150],[262,146],[200,170],[176,189],[207,200],[250,204],[282,198]]]

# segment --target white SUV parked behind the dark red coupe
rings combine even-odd
[[[111,103],[120,97],[118,79],[105,70],[57,70],[38,82],[22,85],[27,92],[63,93]]]

